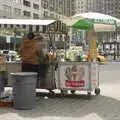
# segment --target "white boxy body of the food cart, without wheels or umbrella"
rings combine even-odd
[[[60,62],[56,81],[59,89],[91,91],[99,85],[98,64],[96,62]]]

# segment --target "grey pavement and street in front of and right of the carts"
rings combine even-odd
[[[33,110],[0,108],[0,120],[120,120],[119,70],[119,62],[100,65],[100,96],[41,97]]]

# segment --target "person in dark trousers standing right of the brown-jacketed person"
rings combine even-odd
[[[37,88],[46,88],[46,76],[49,68],[49,58],[47,57],[47,44],[43,36],[39,35],[36,37],[38,40],[38,46],[40,50],[39,65],[38,65],[38,80]]]

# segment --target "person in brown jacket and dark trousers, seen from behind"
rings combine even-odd
[[[33,33],[28,33],[27,38],[23,40],[20,46],[20,55],[22,58],[22,72],[37,72],[40,50],[38,41],[34,39]]]

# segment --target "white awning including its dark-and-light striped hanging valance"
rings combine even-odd
[[[14,31],[43,31],[43,26],[50,25],[56,20],[39,19],[0,19],[0,34]]]

